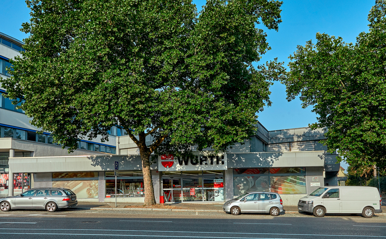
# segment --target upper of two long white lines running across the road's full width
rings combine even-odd
[[[24,228],[0,228],[0,230],[26,230]],[[290,233],[258,233],[258,232],[197,232],[197,231],[149,231],[149,230],[116,230],[116,229],[35,229],[29,228],[29,231],[32,230],[45,230],[45,231],[117,231],[117,232],[178,232],[178,233],[206,233],[206,234],[254,234],[254,235],[285,235],[285,236],[332,236],[332,237],[382,237],[386,236],[364,236],[364,235],[330,235],[330,234],[290,234]],[[23,234],[23,233],[21,233]],[[32,233],[33,234],[33,233]],[[109,234],[107,234],[109,235]],[[205,238],[205,237],[204,237]],[[218,238],[218,237],[215,237]],[[230,237],[234,238],[234,237]],[[283,238],[282,238],[283,239]]]

